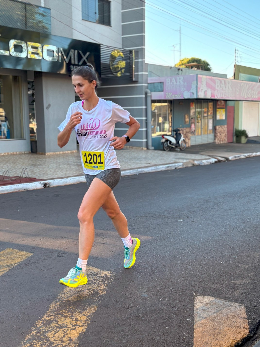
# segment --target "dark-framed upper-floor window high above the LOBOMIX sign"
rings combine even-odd
[[[103,25],[111,25],[110,0],[81,0],[82,19]]]

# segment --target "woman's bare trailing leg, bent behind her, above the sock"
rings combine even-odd
[[[102,205],[102,209],[106,212],[109,218],[111,218],[115,230],[118,232],[120,237],[127,237],[129,234],[127,219],[120,211],[118,202],[116,201],[113,192],[111,192],[107,197],[106,201]]]

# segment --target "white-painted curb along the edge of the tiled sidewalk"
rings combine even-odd
[[[123,170],[121,172],[121,176],[123,177],[123,176],[145,174],[148,172],[182,169],[182,168],[191,167],[191,166],[210,165],[220,161],[226,161],[226,160],[232,161],[237,159],[250,158],[253,156],[260,156],[260,152],[232,155],[232,156],[229,156],[227,159],[219,157],[219,156],[215,156],[215,158],[204,159],[204,160],[188,160],[187,162],[181,162],[181,163],[157,165],[157,166],[140,168],[140,169]],[[0,187],[0,194],[22,192],[22,191],[29,191],[29,190],[35,190],[35,189],[57,187],[57,186],[67,186],[70,184],[85,183],[85,182],[86,182],[85,176],[55,178],[55,179],[49,179],[44,181],[32,182],[32,183],[21,183],[21,184],[2,186]]]

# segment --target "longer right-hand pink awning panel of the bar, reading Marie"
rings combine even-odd
[[[260,83],[198,75],[198,98],[260,101]]]

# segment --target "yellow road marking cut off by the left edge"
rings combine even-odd
[[[0,252],[0,276],[9,271],[21,261],[27,259],[33,253],[19,251],[18,249],[6,248]]]

